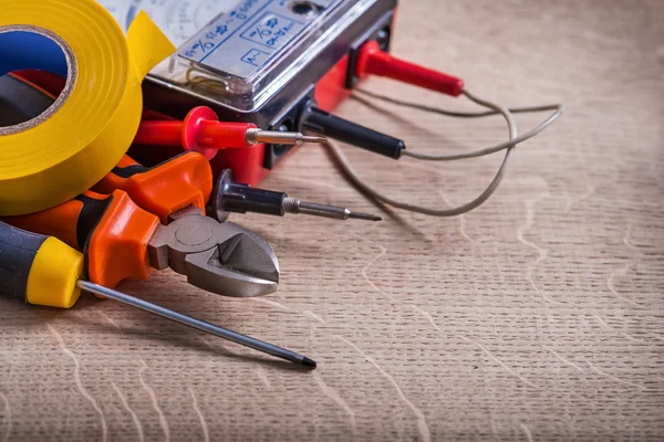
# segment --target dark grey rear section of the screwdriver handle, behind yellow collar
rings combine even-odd
[[[0,222],[0,294],[27,301],[32,263],[46,239]]]

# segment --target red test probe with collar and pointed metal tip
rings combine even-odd
[[[252,123],[219,122],[209,107],[199,106],[189,112],[184,122],[146,120],[141,123],[134,144],[145,146],[181,146],[210,160],[219,149],[249,148],[261,143],[301,145],[325,143],[326,138],[307,136],[298,131],[262,130]]]

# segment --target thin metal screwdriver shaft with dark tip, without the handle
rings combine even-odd
[[[116,292],[114,290],[93,284],[87,281],[79,280],[76,283],[79,288],[84,290],[90,293],[94,293],[95,295],[104,296],[111,299],[118,301],[123,304],[131,305],[136,308],[141,308],[143,311],[153,313],[155,315],[165,317],[166,319],[175,320],[176,323],[180,323],[191,328],[196,328],[198,330],[209,333],[211,335],[221,337],[224,339],[231,340],[236,344],[253,348],[255,350],[266,352],[268,355],[272,355],[274,357],[286,359],[288,361],[299,364],[305,367],[314,368],[317,366],[315,361],[309,359],[305,356],[299,355],[294,351],[287,350],[284,348],[278,347],[272,344],[264,343],[262,340],[252,338],[247,335],[242,335],[237,332],[229,330],[224,327],[216,326],[210,323],[206,323],[205,320],[196,319],[194,317],[183,315],[181,313],[177,313],[170,311],[168,308],[162,307],[156,304],[148,303],[143,299],[138,299],[134,296],[126,295],[121,292]]]

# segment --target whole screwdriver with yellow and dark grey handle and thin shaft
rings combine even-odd
[[[305,356],[81,280],[83,255],[53,236],[0,222],[0,293],[28,304],[71,308],[81,291],[115,299],[274,357],[315,368]]]

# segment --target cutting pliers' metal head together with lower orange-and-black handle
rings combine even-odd
[[[207,218],[196,204],[163,224],[123,190],[107,196],[87,191],[53,209],[4,221],[84,252],[90,280],[106,287],[128,277],[147,280],[154,269],[167,267],[226,296],[267,295],[279,283],[279,263],[264,239]]]

